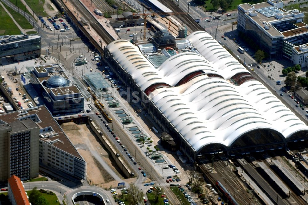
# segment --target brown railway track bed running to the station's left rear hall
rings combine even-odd
[[[79,14],[92,26],[95,32],[101,37],[106,44],[110,44],[115,39],[99,24],[97,19],[89,14],[87,8],[78,0],[72,0],[71,4],[78,10]]]

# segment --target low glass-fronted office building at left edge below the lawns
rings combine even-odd
[[[14,61],[41,56],[41,36],[0,36],[0,58],[11,56]]]

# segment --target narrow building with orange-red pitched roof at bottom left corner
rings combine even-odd
[[[29,197],[19,177],[12,175],[7,180],[7,195],[11,205],[30,205]]]

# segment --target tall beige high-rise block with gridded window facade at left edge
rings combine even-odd
[[[14,113],[14,112],[11,112]],[[39,126],[22,117],[0,119],[0,181],[10,176],[28,180],[39,175]]]

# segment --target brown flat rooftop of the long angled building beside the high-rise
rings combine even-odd
[[[19,111],[14,111],[10,112],[7,114],[2,114],[0,115],[0,120],[7,122],[7,123],[12,123],[15,121],[19,121],[21,116],[18,116],[18,114],[21,113],[21,110]],[[45,139],[40,137],[40,140],[44,140],[47,143],[50,141],[55,141],[56,139],[59,139],[58,141],[55,141],[52,143],[53,146],[62,149],[63,151],[70,153],[71,155],[81,158],[82,157],[79,155],[77,152],[76,148],[74,145],[71,143],[71,141],[67,138],[66,134],[63,132],[59,124],[55,121],[55,119],[52,117],[51,113],[48,111],[45,105],[39,106],[37,110],[31,110],[27,114],[22,115],[22,117],[25,117],[27,115],[31,114],[36,114],[41,122],[36,122],[36,124],[39,126],[39,128],[46,128],[46,127],[52,127],[53,133],[58,133],[57,135],[53,137],[47,137]],[[13,123],[15,124],[15,123]]]

